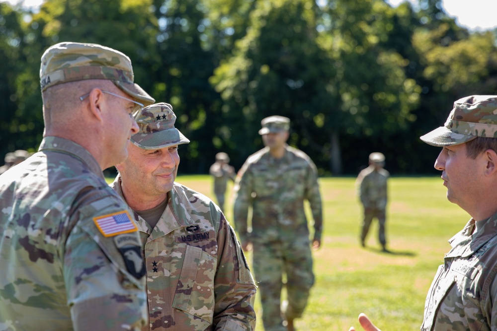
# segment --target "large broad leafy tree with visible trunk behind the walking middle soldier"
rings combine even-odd
[[[229,121],[244,132],[237,148],[247,136],[260,141],[254,127],[261,118],[285,115],[296,129],[290,144],[339,174],[342,137],[406,128],[420,87],[405,75],[409,62],[382,47],[392,16],[383,1],[258,2],[247,36],[212,78],[227,118],[237,109],[245,118]]]

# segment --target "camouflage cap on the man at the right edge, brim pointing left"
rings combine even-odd
[[[445,125],[420,138],[433,146],[449,146],[476,137],[497,138],[497,95],[472,95],[457,100]]]

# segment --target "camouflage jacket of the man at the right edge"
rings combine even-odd
[[[449,240],[424,306],[422,331],[497,330],[497,214]]]

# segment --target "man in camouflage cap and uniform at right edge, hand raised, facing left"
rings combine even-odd
[[[447,199],[471,215],[449,240],[421,330],[497,330],[497,96],[457,100],[445,126],[421,140],[442,147],[435,168],[442,171]],[[364,316],[360,322],[367,331],[379,330]]]

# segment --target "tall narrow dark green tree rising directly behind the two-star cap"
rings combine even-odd
[[[214,155],[226,150],[215,136],[220,125],[220,97],[209,83],[219,56],[209,42],[212,26],[196,0],[156,1],[160,67],[153,72],[154,95],[170,103],[176,126],[190,143],[180,147],[181,171],[206,172]]]

